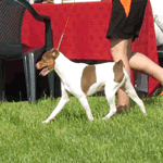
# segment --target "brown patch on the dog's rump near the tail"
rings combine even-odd
[[[124,78],[124,72],[123,72],[123,66],[124,63],[122,60],[116,62],[113,66],[113,72],[114,72],[114,82],[115,83],[121,83],[122,79]]]

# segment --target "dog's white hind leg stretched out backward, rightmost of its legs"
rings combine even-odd
[[[145,115],[147,115],[146,108],[143,105],[142,100],[138,97],[136,90],[134,89],[130,79],[127,78],[126,83],[123,87],[124,91],[140,106],[140,110]]]

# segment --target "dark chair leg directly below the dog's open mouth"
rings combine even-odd
[[[52,96],[54,98],[55,97],[54,71],[52,71],[50,74],[48,74],[48,82],[49,82],[50,96]]]

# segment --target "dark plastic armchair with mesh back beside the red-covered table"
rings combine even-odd
[[[45,23],[43,47],[32,48],[21,42],[22,22],[26,10],[35,20]],[[27,99],[36,102],[35,61],[52,47],[52,29],[49,16],[38,14],[25,0],[0,0],[0,101],[4,99],[5,61],[23,59]],[[54,72],[48,75],[48,79],[50,93],[54,97]]]

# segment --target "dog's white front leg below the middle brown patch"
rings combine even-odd
[[[82,103],[82,105],[84,106],[84,109],[86,110],[86,114],[88,116],[89,121],[93,121],[93,116],[91,114],[91,110],[87,100],[86,96],[83,96],[82,98],[78,98],[79,102]]]

